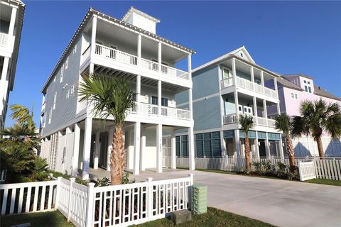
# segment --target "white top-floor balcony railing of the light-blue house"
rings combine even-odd
[[[220,81],[222,89],[227,87],[234,86],[233,77],[229,79],[223,79]],[[274,99],[278,99],[278,94],[274,89],[269,89],[268,87],[264,87],[261,84],[256,84],[254,82],[249,81],[248,79],[244,79],[242,77],[236,77],[236,87],[242,87],[252,92],[256,92],[259,94],[264,94]]]

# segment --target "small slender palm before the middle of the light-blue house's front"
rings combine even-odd
[[[249,131],[254,126],[254,118],[252,115],[239,115],[239,125],[242,131],[245,133],[245,162],[247,164],[247,170],[251,170],[250,165],[250,142]]]

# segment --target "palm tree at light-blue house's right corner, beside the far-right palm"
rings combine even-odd
[[[295,151],[293,150],[293,142],[291,141],[290,132],[292,121],[288,114],[277,115],[275,117],[275,128],[282,131],[286,135],[286,153],[289,155],[290,172],[295,172]]]

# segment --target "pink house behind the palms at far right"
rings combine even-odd
[[[324,99],[327,103],[337,102],[341,106],[341,99],[313,82],[313,77],[305,74],[290,74],[278,77],[278,97],[280,100],[281,114],[298,116],[300,114],[301,101],[315,101]],[[275,115],[276,107],[269,107],[268,114]],[[293,138],[295,155],[298,157],[318,155],[316,142],[310,136]],[[341,141],[333,140],[330,135],[323,134],[323,148],[326,156],[341,156]]]

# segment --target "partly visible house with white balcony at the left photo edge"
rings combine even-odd
[[[0,130],[4,128],[9,92],[13,90],[24,12],[22,1],[0,1]]]

